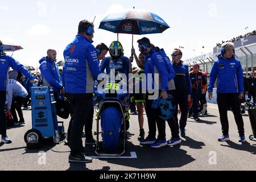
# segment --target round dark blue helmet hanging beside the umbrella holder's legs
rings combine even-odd
[[[151,107],[156,109],[156,115],[158,115],[161,119],[167,120],[174,115],[175,105],[173,100],[174,97],[168,94],[167,99],[159,97],[158,99],[154,100]]]

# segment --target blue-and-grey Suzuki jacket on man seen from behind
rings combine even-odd
[[[93,41],[84,35],[77,35],[75,40],[64,50],[64,83],[67,93],[93,93],[94,80],[101,73],[98,67],[96,49]]]

